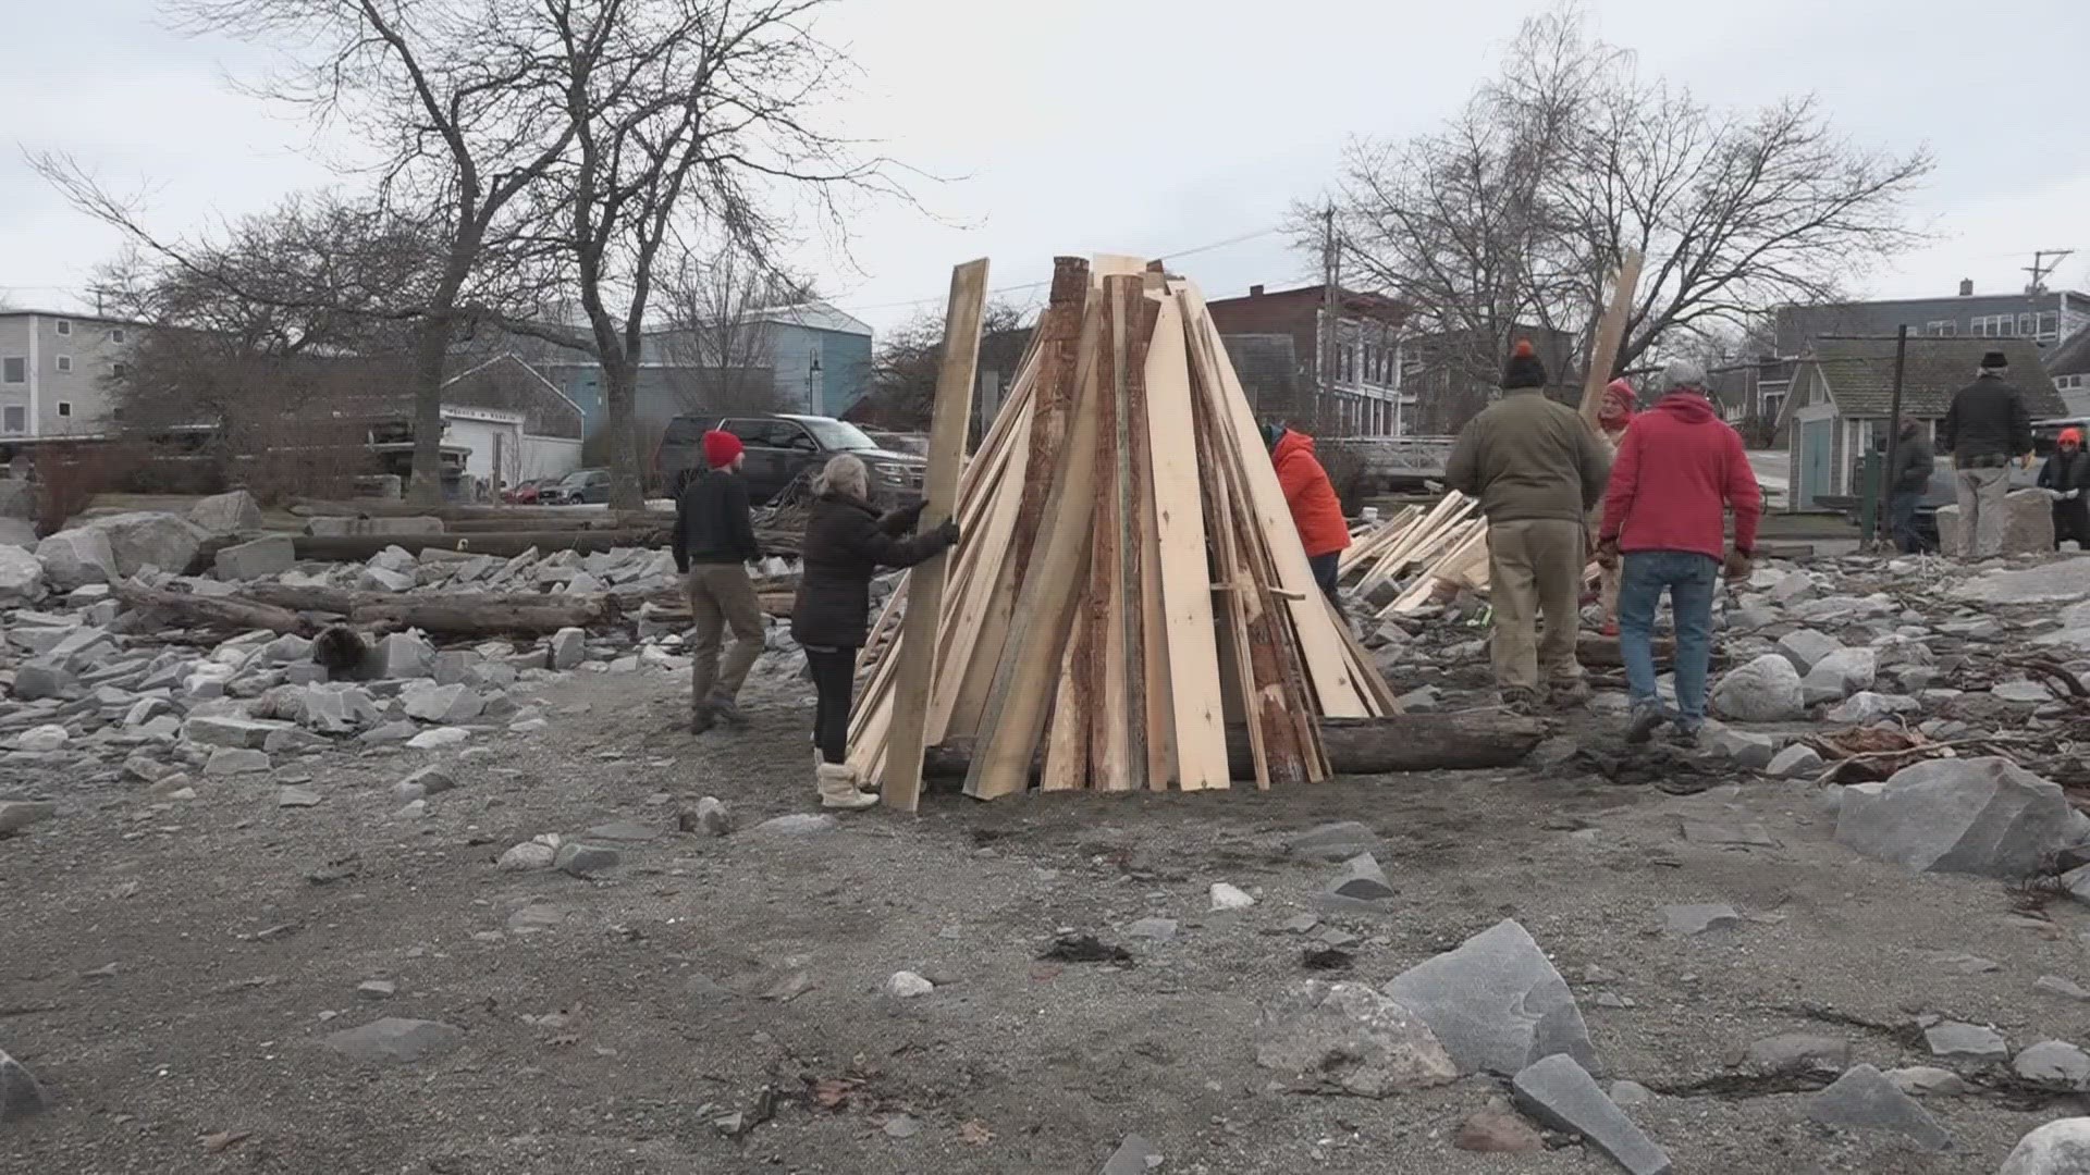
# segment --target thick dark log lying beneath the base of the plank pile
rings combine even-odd
[[[1545,723],[1507,711],[1321,719],[1321,744],[1329,767],[1340,776],[1509,767],[1530,755],[1540,738]],[[970,765],[972,742],[953,738],[928,748],[922,774],[963,778]],[[1037,771],[1039,763],[1032,761],[1032,780]],[[1227,774],[1235,780],[1256,778],[1248,730],[1237,723],[1227,725]]]

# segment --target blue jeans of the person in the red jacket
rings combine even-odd
[[[1705,721],[1705,669],[1712,665],[1712,592],[1720,560],[1689,550],[1639,550],[1618,579],[1618,654],[1634,707],[1655,705],[1655,608],[1670,590],[1676,617],[1676,723]]]

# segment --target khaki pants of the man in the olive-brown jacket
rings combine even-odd
[[[1488,523],[1488,600],[1494,604],[1494,684],[1536,690],[1582,675],[1574,656],[1582,627],[1582,523],[1528,519]],[[1545,615],[1545,633],[1538,617]]]

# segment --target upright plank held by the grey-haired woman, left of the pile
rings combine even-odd
[[[943,320],[943,366],[936,370],[936,406],[928,429],[928,468],[922,475],[922,529],[940,527],[957,506],[957,481],[972,427],[972,378],[980,358],[980,314],[986,307],[986,259],[951,270],[951,305]],[[892,721],[886,728],[886,807],[915,811],[922,797],[922,725],[928,719],[936,669],[936,633],[949,554],[934,554],[907,573],[909,600],[895,652]]]

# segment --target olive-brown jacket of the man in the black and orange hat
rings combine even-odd
[[[1574,408],[1538,391],[1509,391],[1459,431],[1444,485],[1480,498],[1490,523],[1580,523],[1611,475],[1603,450]]]

